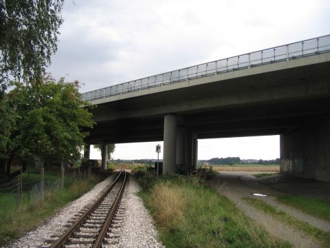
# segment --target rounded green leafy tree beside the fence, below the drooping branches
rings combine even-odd
[[[69,161],[80,158],[83,129],[93,127],[91,113],[81,100],[78,81],[45,79],[43,83],[14,83],[14,90],[0,100],[0,167],[2,180],[10,180],[20,172],[10,173],[13,158],[23,162]],[[2,128],[3,127],[3,128]]]

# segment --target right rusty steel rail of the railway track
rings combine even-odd
[[[115,198],[115,202],[113,203],[111,210],[109,211],[107,220],[105,220],[104,225],[100,231],[100,234],[98,234],[98,238],[96,239],[93,248],[99,248],[102,246],[103,239],[107,235],[108,228],[111,225],[113,217],[115,216],[115,211],[117,211],[118,206],[120,204],[120,200],[122,199],[122,194],[124,194],[125,185],[126,185],[126,172],[124,171],[124,181],[122,183],[122,186],[120,187],[120,190]]]

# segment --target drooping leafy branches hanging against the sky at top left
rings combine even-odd
[[[40,81],[57,50],[64,0],[0,0],[0,93],[10,75]],[[0,96],[1,99],[1,96]]]

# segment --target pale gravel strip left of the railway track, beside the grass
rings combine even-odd
[[[88,203],[92,203],[96,199],[96,196],[98,196],[98,194],[100,194],[100,192],[105,189],[105,187],[107,187],[112,180],[113,176],[109,176],[101,183],[98,183],[89,192],[74,200],[74,202],[72,202],[70,205],[67,205],[67,207],[63,207],[63,209],[58,211],[55,216],[50,218],[50,220],[47,220],[44,225],[41,225],[34,231],[28,232],[28,234],[10,244],[8,248],[39,247],[44,240],[49,239],[50,236],[56,231],[61,231],[61,229],[63,229],[63,225],[65,225],[68,220],[73,218],[74,214],[77,214],[80,209],[83,209],[83,207]]]

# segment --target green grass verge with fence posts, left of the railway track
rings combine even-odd
[[[36,176],[36,178],[39,177]],[[49,177],[52,178],[52,175]],[[30,180],[34,180],[34,176],[31,176]],[[68,185],[66,183],[65,188],[57,192],[45,192],[44,203],[30,203],[29,193],[23,192],[23,206],[19,210],[16,209],[15,196],[1,194],[0,203],[5,204],[0,204],[0,246],[41,225],[44,220],[55,214],[56,209],[65,206],[94,187],[100,178],[91,176],[89,180],[80,181],[66,178],[66,181]]]

